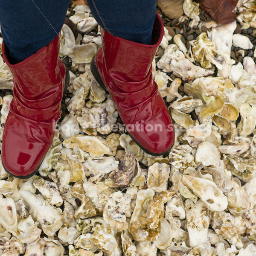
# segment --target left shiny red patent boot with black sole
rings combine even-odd
[[[3,42],[13,75],[13,96],[3,130],[2,163],[12,176],[34,175],[52,144],[69,73],[58,58],[59,37],[15,65]]]

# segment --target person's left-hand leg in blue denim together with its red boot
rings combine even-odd
[[[1,154],[6,172],[18,178],[34,175],[52,144],[69,81],[58,58],[69,2],[0,0],[3,58],[14,77]]]

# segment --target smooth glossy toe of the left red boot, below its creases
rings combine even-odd
[[[18,178],[34,175],[49,149],[49,135],[45,134],[44,125],[35,125],[33,121],[22,117],[18,119],[9,113],[2,147],[2,163],[6,172]]]

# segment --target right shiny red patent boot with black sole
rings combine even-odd
[[[91,62],[93,76],[110,93],[131,138],[151,155],[166,153],[175,139],[169,111],[151,72],[162,38],[159,15],[151,45],[114,37],[102,29],[102,48]]]

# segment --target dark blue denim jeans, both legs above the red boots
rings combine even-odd
[[[99,25],[114,36],[151,44],[156,0],[87,0]],[[60,32],[70,0],[0,0],[3,40],[13,64]]]

